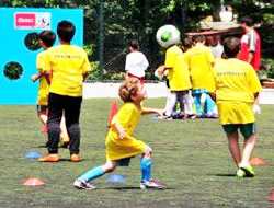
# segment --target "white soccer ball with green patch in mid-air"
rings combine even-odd
[[[180,31],[173,25],[164,25],[158,28],[156,39],[160,46],[168,48],[180,42]]]

